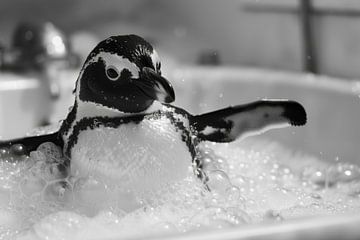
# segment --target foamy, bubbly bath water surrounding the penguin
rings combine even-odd
[[[119,189],[95,177],[74,179],[51,143],[29,157],[19,146],[0,154],[2,239],[125,238],[360,212],[359,166],[266,140],[203,144],[210,192],[189,171],[147,198],[119,197]],[[137,209],[130,211],[134,199]]]

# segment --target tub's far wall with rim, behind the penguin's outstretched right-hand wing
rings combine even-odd
[[[183,68],[169,77],[175,105],[202,113],[264,98],[302,103],[308,123],[262,135],[321,159],[359,163],[360,82],[241,68]]]

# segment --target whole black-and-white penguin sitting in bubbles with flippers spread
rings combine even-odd
[[[57,131],[1,141],[29,153],[44,142],[61,147],[72,175],[95,175],[134,189],[181,180],[192,169],[203,182],[199,144],[227,143],[306,123],[290,100],[260,100],[192,115],[173,106],[172,84],[156,50],[137,35],[112,36],[89,54],[74,90],[75,102]]]

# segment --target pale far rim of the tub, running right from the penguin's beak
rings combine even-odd
[[[263,68],[237,66],[181,66],[167,76],[170,81],[182,79],[184,83],[192,79],[206,78],[206,81],[218,81],[226,72],[226,81],[257,82],[265,84],[285,84],[305,88],[316,88],[360,96],[360,79],[342,79],[338,77],[306,72],[280,71]],[[205,73],[205,75],[204,75]],[[238,76],[242,78],[239,79]],[[266,79],[263,76],[266,76]],[[178,83],[176,83],[178,84]],[[176,84],[174,84],[176,86]]]

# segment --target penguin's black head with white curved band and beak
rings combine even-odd
[[[76,85],[77,101],[126,113],[142,112],[155,100],[170,103],[175,93],[160,68],[158,54],[143,38],[109,37],[87,57]]]

